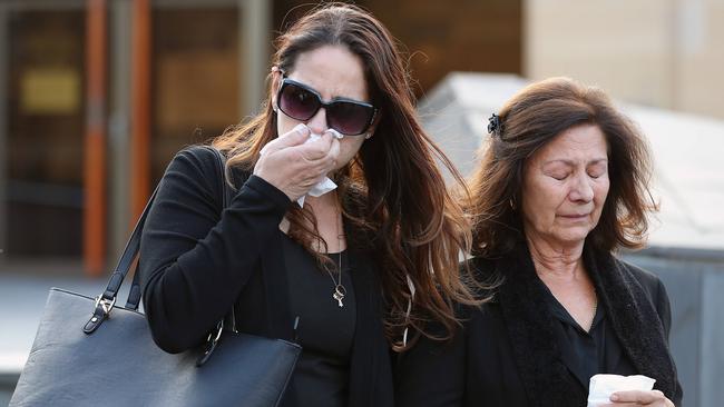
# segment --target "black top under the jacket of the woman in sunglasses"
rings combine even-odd
[[[295,394],[301,406],[344,406],[355,314],[349,257],[346,251],[329,255],[335,265],[342,260],[341,284],[346,294],[340,307],[332,297],[339,281],[336,270],[330,275],[302,246],[282,235],[290,308],[294,317],[300,317],[297,340],[303,349],[290,394]]]

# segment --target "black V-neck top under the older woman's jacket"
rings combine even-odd
[[[607,322],[604,307],[596,307],[594,321],[586,331],[548,289],[546,301],[550,314],[560,322],[557,327],[559,329],[556,329],[556,338],[561,359],[584,391],[588,391],[594,375],[636,374],[616,338],[616,332]]]

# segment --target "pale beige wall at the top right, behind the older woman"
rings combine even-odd
[[[724,118],[724,1],[527,0],[524,75]]]

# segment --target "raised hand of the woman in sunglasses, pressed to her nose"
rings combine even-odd
[[[310,129],[304,125],[270,141],[262,149],[254,175],[297,200],[336,163],[340,141],[325,131],[319,140],[306,142]]]

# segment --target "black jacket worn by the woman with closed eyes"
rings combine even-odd
[[[671,310],[664,285],[609,254],[585,248],[584,261],[606,322],[630,365],[655,378],[654,387],[679,406],[682,388],[667,345]],[[399,358],[397,405],[585,406],[587,388],[561,355],[555,336],[559,322],[546,304],[546,288],[527,247],[500,259],[474,258],[470,266],[481,281],[502,276],[503,282],[492,291],[491,302],[463,312],[468,320],[451,343],[425,339]]]

